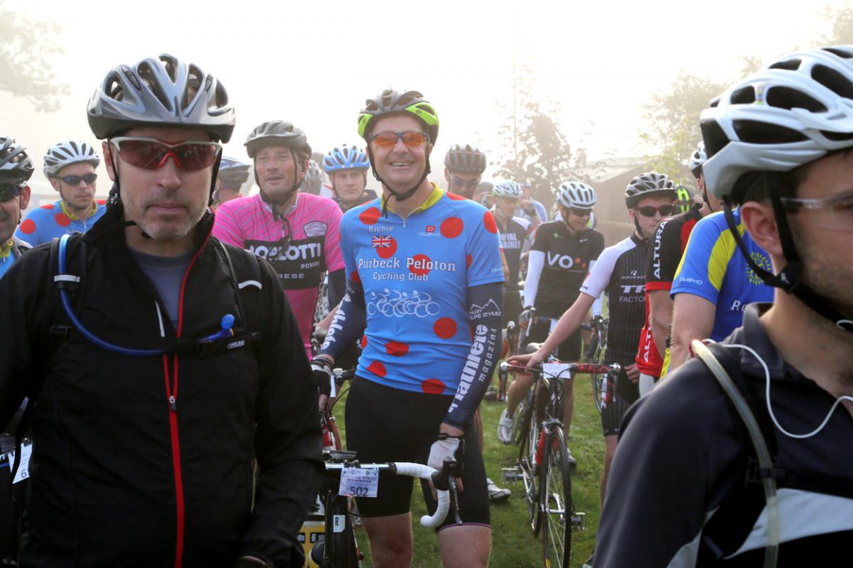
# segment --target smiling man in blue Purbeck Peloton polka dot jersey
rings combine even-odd
[[[441,469],[444,458],[461,460],[463,525],[451,513],[438,546],[444,565],[485,566],[489,500],[471,424],[500,357],[496,223],[482,205],[427,181],[438,117],[421,93],[386,89],[368,99],[358,129],[382,197],[341,222],[347,294],[316,373],[363,337],[346,401],[348,448],[368,462]],[[374,562],[409,565],[411,481],[392,476],[380,486],[377,498],[357,498]],[[424,497],[434,507],[430,491]]]

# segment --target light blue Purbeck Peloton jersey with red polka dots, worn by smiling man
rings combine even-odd
[[[357,375],[392,388],[456,394],[476,367],[469,309],[473,286],[503,281],[497,226],[480,204],[437,187],[403,219],[380,199],[341,221],[347,278],[361,283],[367,329]],[[479,326],[482,327],[482,326]]]

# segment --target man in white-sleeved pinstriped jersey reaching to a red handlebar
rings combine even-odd
[[[510,359],[511,364],[532,366],[541,363],[549,353],[577,332],[595,299],[606,292],[610,324],[607,326],[604,362],[622,365],[630,383],[614,387],[612,402],[601,409],[605,441],[604,472],[601,474],[602,503],[607,473],[616,451],[619,422],[625,410],[640,396],[636,386],[639,372],[634,359],[645,316],[643,303],[648,239],[664,215],[672,212],[675,199],[676,187],[667,175],[647,172],[632,179],[625,188],[625,205],[631,221],[634,221],[634,233],[601,252],[598,261],[589,269],[589,276],[583,280],[577,300],[562,315],[543,346],[536,353],[516,355]],[[592,564],[592,558],[587,564]]]

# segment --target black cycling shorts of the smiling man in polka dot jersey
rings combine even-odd
[[[453,397],[422,394],[386,387],[355,377],[346,399],[346,449],[355,450],[361,462],[427,463],[430,446],[438,436],[438,427],[447,416]],[[489,493],[486,491],[485,465],[476,432],[465,432],[465,491],[459,495],[462,522],[490,525]],[[379,494],[374,498],[357,497],[363,517],[386,517],[409,513],[414,479],[380,472]],[[426,481],[421,481],[424,502],[430,514],[436,502]],[[454,525],[454,508],[436,531]]]

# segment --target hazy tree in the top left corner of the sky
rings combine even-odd
[[[60,27],[32,20],[9,9],[0,0],[0,90],[24,97],[38,112],[54,112],[67,95],[67,85],[56,80],[49,56],[64,52],[53,41]]]

